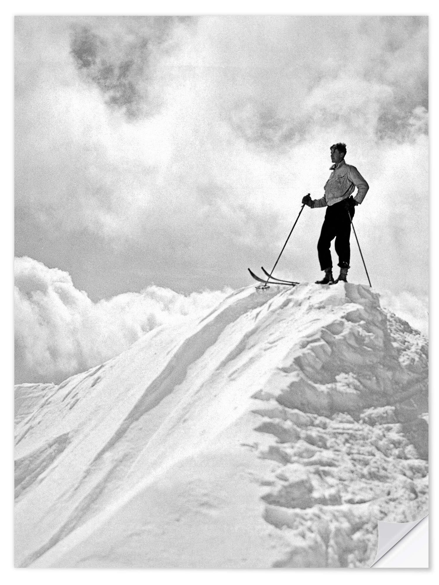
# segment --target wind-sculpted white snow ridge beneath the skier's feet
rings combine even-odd
[[[368,287],[249,287],[17,387],[16,566],[370,566],[427,514],[427,360]]]

